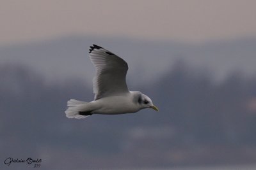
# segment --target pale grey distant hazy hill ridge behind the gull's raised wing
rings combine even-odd
[[[214,81],[222,81],[234,70],[248,75],[256,73],[256,38],[189,44],[176,41],[68,36],[0,46],[0,63],[24,64],[41,73],[47,81],[62,81],[73,77],[89,82],[88,85],[92,87],[91,81],[95,72],[88,59],[88,49],[93,43],[111,50],[127,61],[130,86],[156,80],[159,75],[169,71],[176,60],[184,60],[191,66],[208,69]]]

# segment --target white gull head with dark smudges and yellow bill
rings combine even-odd
[[[158,108],[154,106],[152,100],[141,92],[135,92],[134,102],[140,106],[141,109],[152,108],[158,111]]]

